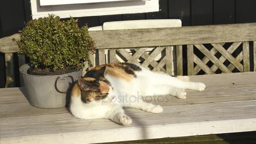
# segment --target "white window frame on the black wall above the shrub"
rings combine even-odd
[[[51,0],[54,1],[54,0]],[[159,0],[118,0],[104,3],[74,3],[65,5],[40,5],[40,0],[31,0],[32,19],[53,13],[60,18],[103,16],[125,13],[147,13],[159,11]],[[81,2],[81,1],[80,1]]]

